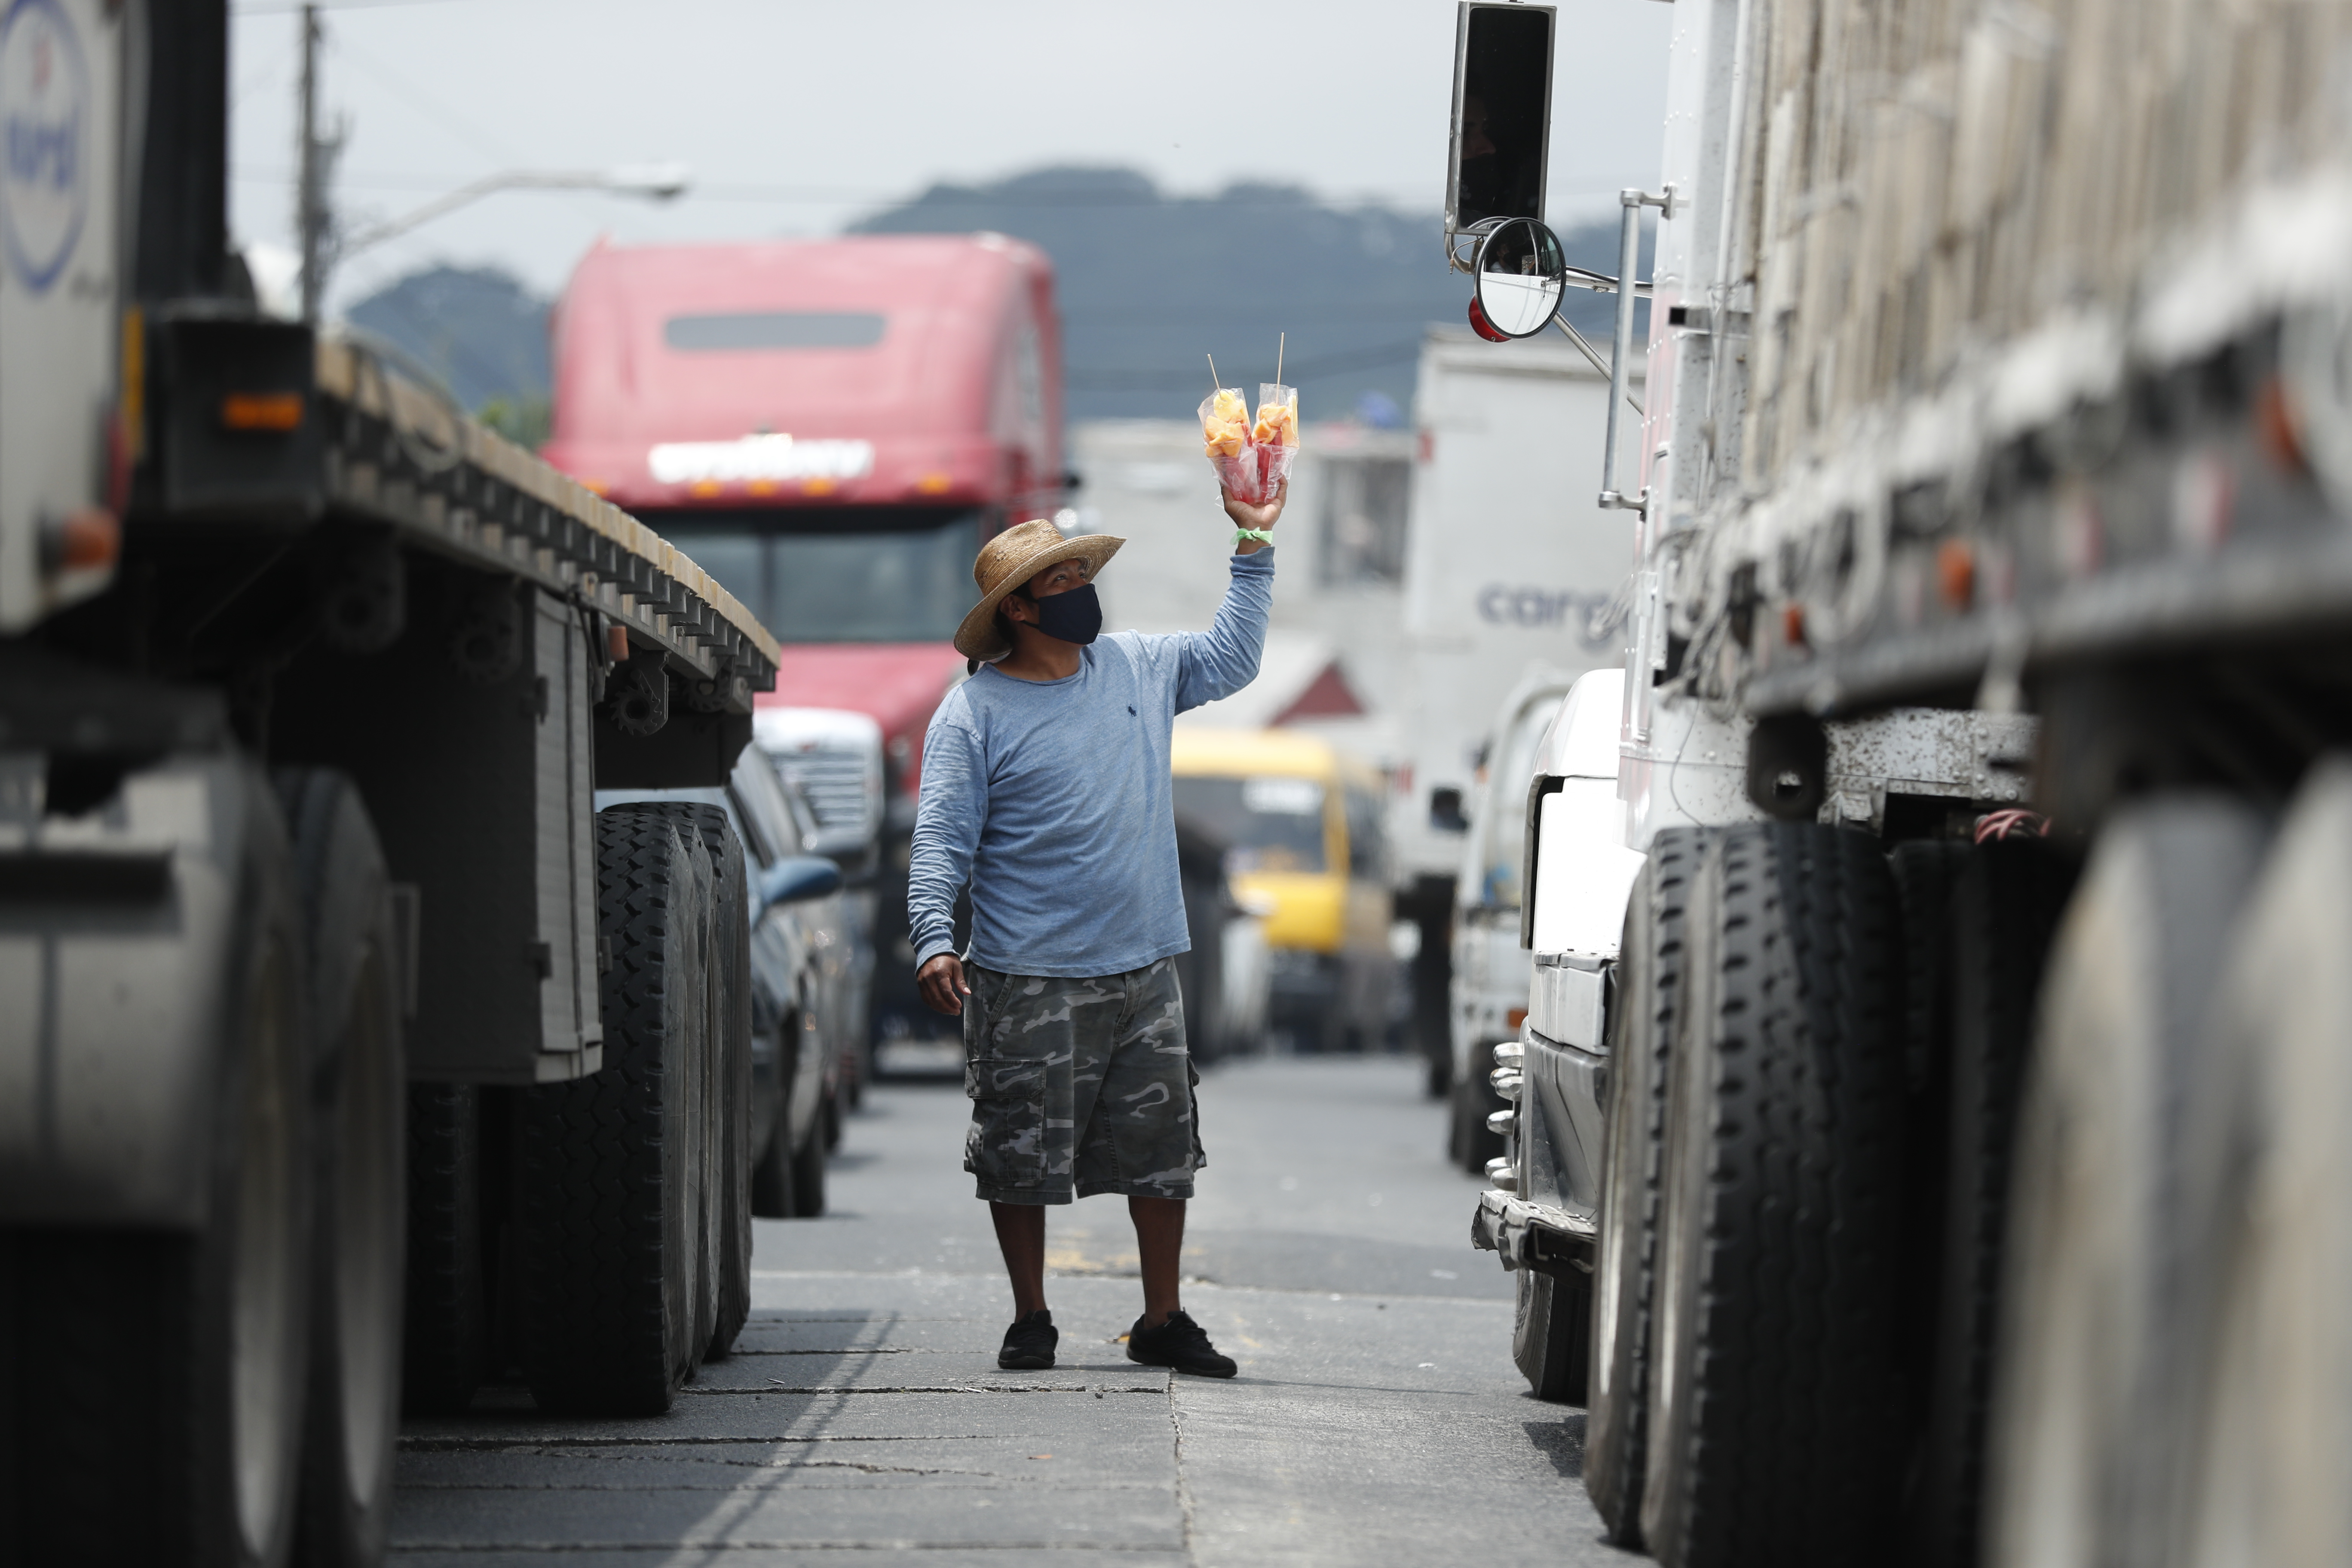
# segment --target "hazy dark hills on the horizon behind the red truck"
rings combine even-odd
[[[1432,214],[1331,207],[1296,186],[1171,197],[1134,169],[1035,169],[988,186],[931,186],[851,233],[997,230],[1054,259],[1070,418],[1181,418],[1209,390],[1284,378],[1308,418],[1409,409],[1423,327],[1461,324],[1470,280],[1446,270]],[[1569,261],[1616,270],[1616,226],[1559,235]],[[1644,261],[1646,266],[1646,261]],[[1569,294],[1604,336],[1613,301]],[[407,350],[468,409],[543,421],[548,301],[496,268],[435,266],[367,296],[350,320]]]

